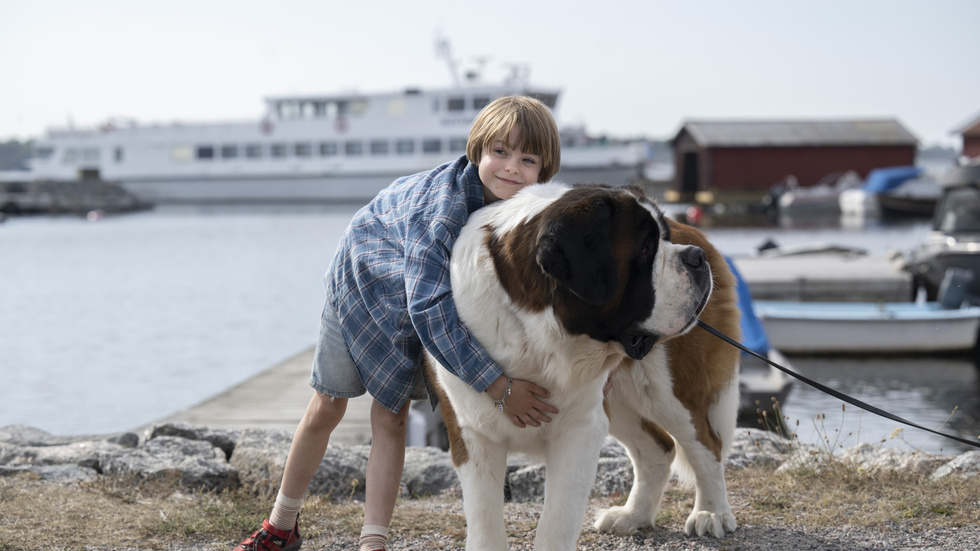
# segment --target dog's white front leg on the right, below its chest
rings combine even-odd
[[[549,440],[545,452],[544,507],[534,538],[535,551],[575,549],[607,431],[603,416],[591,426],[572,427]]]

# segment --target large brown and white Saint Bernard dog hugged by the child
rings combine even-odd
[[[597,529],[652,526],[676,459],[697,492],[686,532],[735,530],[724,459],[738,351],[691,329],[700,316],[738,338],[739,313],[734,278],[703,234],[636,188],[538,184],[470,217],[450,273],[463,323],[508,377],[548,389],[560,410],[518,428],[489,394],[426,357],[462,484],[466,549],[507,548],[509,451],[545,462],[534,548],[575,549],[609,433],[627,448],[634,482]]]

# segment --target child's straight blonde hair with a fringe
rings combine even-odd
[[[520,143],[507,143],[514,128],[520,130]],[[541,157],[538,182],[547,182],[558,173],[561,166],[558,125],[540,101],[530,96],[504,96],[490,102],[473,121],[466,141],[466,157],[471,163],[480,164],[483,152],[498,140],[507,147]]]

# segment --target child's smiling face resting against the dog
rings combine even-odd
[[[519,143],[520,136],[520,130],[515,128],[507,142]],[[536,184],[541,173],[541,157],[497,140],[483,151],[479,169],[483,196],[490,204],[498,199],[510,199],[524,187]]]

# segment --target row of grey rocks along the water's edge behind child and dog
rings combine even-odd
[[[114,475],[137,479],[177,475],[181,486],[189,490],[245,487],[260,495],[274,495],[291,439],[292,435],[283,431],[218,430],[182,423],[154,425],[143,435],[104,436],[55,436],[12,425],[0,427],[0,475],[28,471],[42,480],[65,483]],[[352,493],[360,495],[369,451],[370,446],[331,444],[310,493],[344,498]],[[608,438],[601,457],[593,496],[628,492],[633,472],[623,447]],[[866,443],[838,450],[833,457],[862,470],[908,470],[932,479],[980,474],[980,451],[930,455]],[[770,432],[738,429],[728,469],[819,469],[828,459],[828,452],[815,446],[800,445]],[[543,481],[543,465],[530,464],[520,456],[511,458],[511,500],[541,500]],[[402,484],[406,496],[424,497],[458,489],[459,482],[447,452],[410,447]]]

